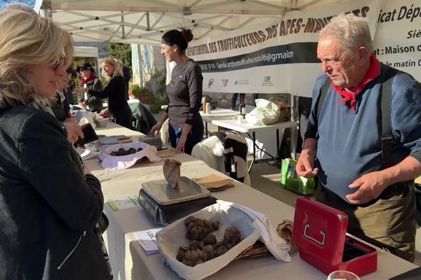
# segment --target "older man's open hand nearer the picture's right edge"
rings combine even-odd
[[[349,184],[349,188],[358,188],[355,193],[346,195],[352,204],[363,204],[379,197],[387,187],[381,172],[370,172]]]

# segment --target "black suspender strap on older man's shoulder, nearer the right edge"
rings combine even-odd
[[[380,97],[380,121],[382,123],[380,143],[382,145],[382,167],[386,168],[392,164],[393,134],[390,112],[392,111],[392,83],[398,70],[389,66],[382,66],[382,69],[385,69],[385,76]]]

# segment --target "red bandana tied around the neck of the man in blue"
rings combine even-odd
[[[338,102],[339,104],[349,101],[349,106],[351,106],[354,111],[356,110],[356,96],[363,90],[364,87],[370,81],[374,80],[380,75],[380,62],[375,58],[375,55],[371,54],[370,56],[370,68],[368,68],[368,71],[366,73],[366,76],[361,80],[361,83],[356,87],[355,92],[348,92],[346,90],[343,90],[342,88],[333,85],[333,90],[337,92],[338,94],[342,95],[342,99]]]

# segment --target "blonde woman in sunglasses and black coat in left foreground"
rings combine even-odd
[[[0,279],[112,279],[100,182],[48,106],[72,55],[51,20],[0,10]]]

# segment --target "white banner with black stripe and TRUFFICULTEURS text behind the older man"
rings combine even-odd
[[[339,13],[369,19],[375,34],[379,0],[338,3],[330,9],[291,11],[281,21],[261,22],[194,41],[187,55],[199,63],[203,92],[280,93],[311,97],[321,75],[318,32]]]

